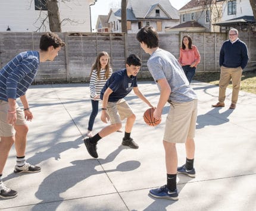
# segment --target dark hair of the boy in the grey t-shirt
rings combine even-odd
[[[145,43],[148,48],[157,48],[159,46],[157,31],[152,26],[142,27],[136,38],[140,43]]]

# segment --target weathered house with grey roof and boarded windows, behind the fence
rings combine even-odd
[[[179,23],[177,10],[169,0],[127,0],[127,32],[137,33],[143,26],[153,26],[158,33]],[[110,32],[121,32],[121,9],[108,13]]]

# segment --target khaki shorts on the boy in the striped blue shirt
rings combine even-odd
[[[24,112],[16,103],[17,122],[16,125],[25,125]],[[14,126],[7,124],[8,102],[0,100],[0,136],[10,137],[15,135]]]

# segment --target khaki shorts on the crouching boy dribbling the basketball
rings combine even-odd
[[[117,102],[108,102],[107,113],[110,116],[111,125],[121,123],[123,119],[134,114],[132,108],[124,99],[120,99]]]

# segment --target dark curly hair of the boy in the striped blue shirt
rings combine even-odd
[[[54,46],[54,48],[63,47],[65,43],[63,40],[58,37],[57,34],[54,34],[52,32],[47,32],[43,34],[40,38],[40,45],[39,48],[42,51],[47,51],[49,46]]]

